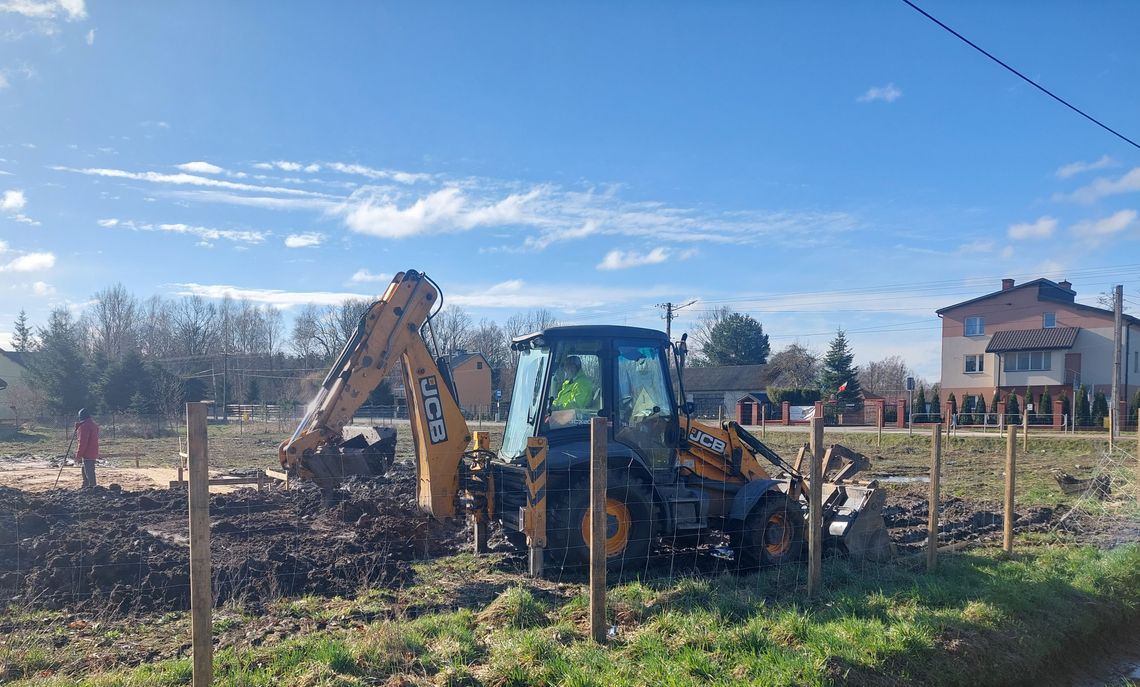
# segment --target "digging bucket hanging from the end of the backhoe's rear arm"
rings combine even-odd
[[[343,430],[339,444],[325,444],[306,456],[301,467],[312,474],[312,481],[325,497],[347,477],[378,477],[396,459],[396,430],[392,427],[353,427]]]

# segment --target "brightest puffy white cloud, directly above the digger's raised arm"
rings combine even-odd
[[[448,187],[400,207],[385,194],[364,189],[352,194],[341,211],[349,229],[382,238],[406,238],[418,234],[465,231],[475,227],[531,223],[527,205],[539,190],[511,194],[495,203],[473,202],[463,191]]]

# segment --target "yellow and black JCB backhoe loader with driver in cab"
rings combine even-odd
[[[695,543],[710,532],[730,537],[743,566],[801,558],[803,451],[791,464],[734,422],[693,419],[692,403],[678,401],[684,337],[673,343],[652,329],[576,326],[515,338],[511,409],[492,451],[487,433],[470,431],[446,360],[429,351],[431,319],[441,306],[429,277],[398,273],[280,444],[282,465],[329,493],[348,475],[383,473],[394,433],[353,428],[352,416],[393,366],[402,366],[417,501],[435,517],[469,517],[477,547],[498,521],[510,539],[542,551],[547,570],[588,562],[589,423],[604,417],[612,569],[636,570],[660,539]],[[828,450],[823,534],[844,554],[880,561],[891,554],[885,494],[874,482],[852,480],[866,466],[842,447]]]

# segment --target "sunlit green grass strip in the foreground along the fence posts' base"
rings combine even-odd
[[[584,592],[559,597],[544,584],[507,586],[479,612],[226,647],[215,685],[1024,682],[1138,619],[1140,546],[1041,546],[1012,558],[979,550],[942,558],[933,574],[829,561],[812,600],[793,571],[630,582],[609,592],[605,647],[586,637]],[[42,646],[17,661],[18,672],[13,656],[3,660],[8,674],[52,670]],[[163,687],[185,685],[188,671],[186,660],[168,660],[16,684]]]

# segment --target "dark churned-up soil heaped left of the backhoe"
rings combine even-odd
[[[215,603],[352,595],[410,581],[409,562],[455,553],[462,524],[422,514],[415,476],[356,482],[324,507],[315,489],[242,490],[210,499]],[[186,493],[31,493],[0,488],[0,599],[93,613],[189,605]]]

